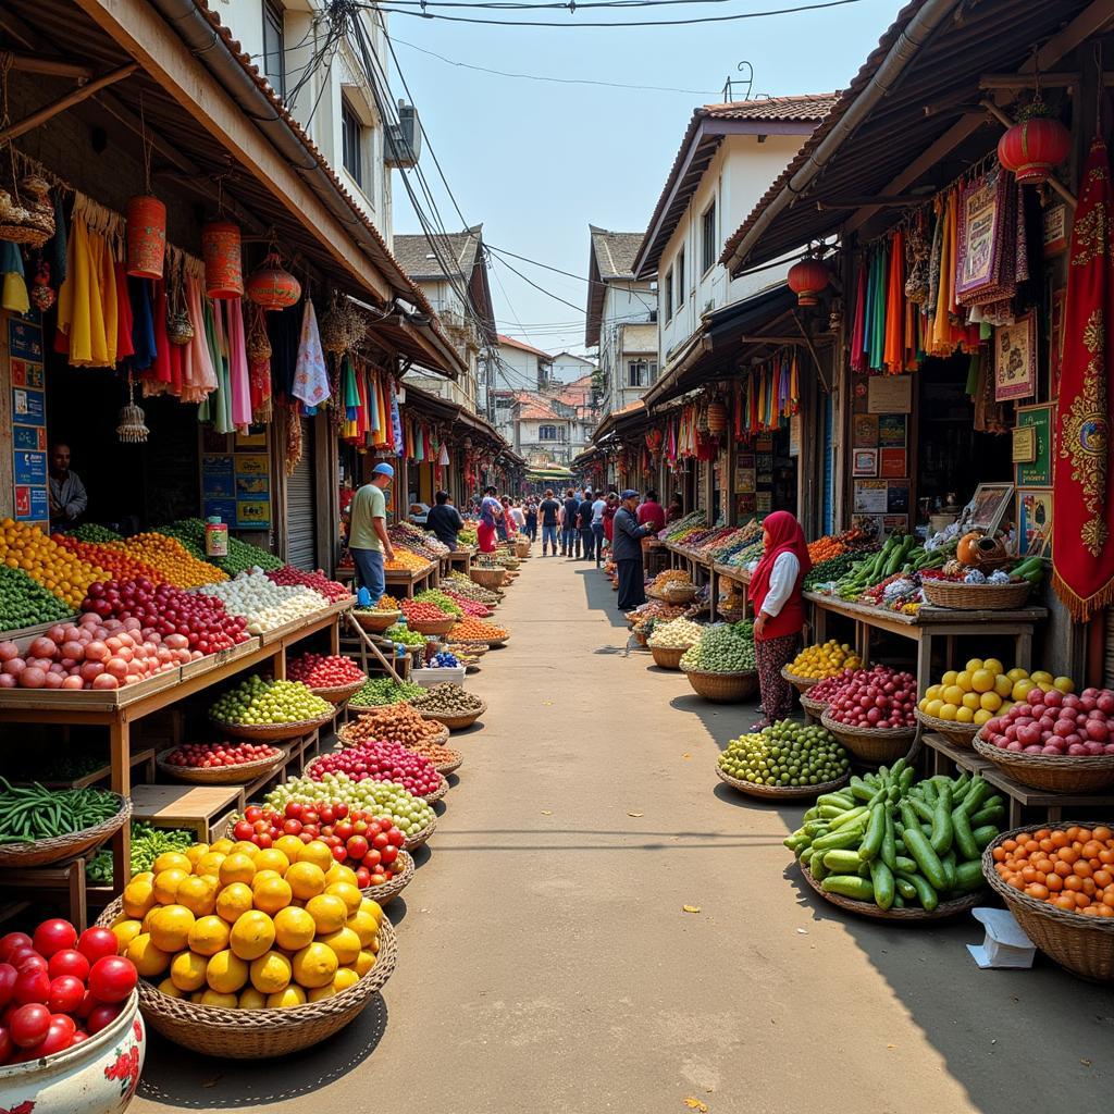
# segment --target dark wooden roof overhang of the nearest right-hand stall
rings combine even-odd
[[[720,262],[735,276],[871,218],[874,232],[900,219],[994,148],[1003,127],[987,102],[1032,88],[1035,70],[1112,19],[1108,0],[913,0]]]

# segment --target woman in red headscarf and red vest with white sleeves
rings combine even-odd
[[[788,719],[793,711],[793,687],[781,675],[797,654],[804,626],[801,586],[812,568],[801,524],[788,511],[775,510],[762,524],[762,559],[751,573],[754,603],[754,656],[765,721]]]

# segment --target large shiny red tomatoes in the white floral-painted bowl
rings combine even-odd
[[[116,935],[45,920],[33,937],[0,938],[0,1064],[23,1064],[88,1040],[124,1008],[138,976]]]

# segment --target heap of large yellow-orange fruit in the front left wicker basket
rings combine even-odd
[[[160,854],[113,924],[119,954],[173,998],[287,1009],[354,986],[375,966],[383,911],[321,840],[222,839]]]

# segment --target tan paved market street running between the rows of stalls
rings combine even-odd
[[[781,842],[802,809],[715,779],[753,711],[628,656],[595,569],[522,569],[497,613],[514,636],[469,680],[486,726],[453,735],[459,783],[388,909],[383,1004],[280,1062],[153,1036],[133,1111],[1108,1110],[1106,991],[1040,956],[979,971],[969,917],[819,908]]]

